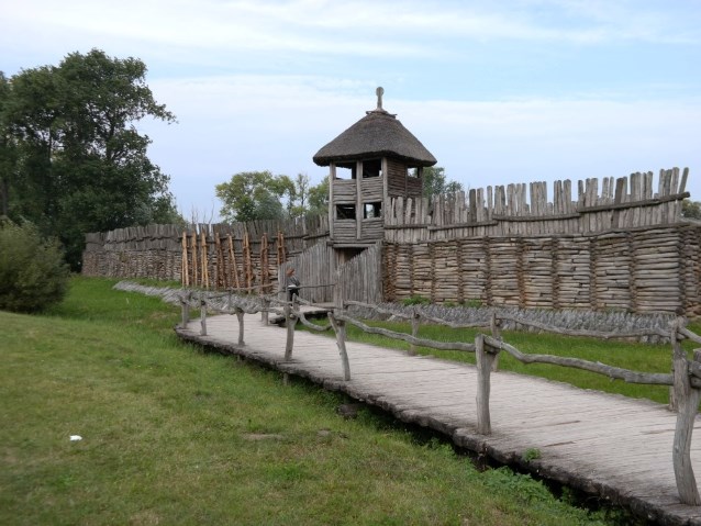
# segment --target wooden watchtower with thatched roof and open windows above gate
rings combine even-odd
[[[397,115],[377,108],[314,155],[329,166],[331,243],[341,262],[385,237],[382,209],[396,197],[420,197],[422,171],[435,157],[407,130]]]

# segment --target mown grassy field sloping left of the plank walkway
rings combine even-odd
[[[0,524],[624,524],[315,387],[183,345],[175,307],[75,278],[0,312]],[[82,440],[71,441],[71,435]]]

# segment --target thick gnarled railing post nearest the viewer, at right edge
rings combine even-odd
[[[691,385],[689,362],[685,356],[677,329],[680,323],[676,322],[671,331],[671,345],[674,357],[674,392],[677,405],[677,426],[675,428],[675,444],[672,447],[672,462],[677,491],[682,504],[701,506],[701,495],[697,486],[697,479],[691,465],[691,435],[696,423],[701,401],[701,390]],[[696,349],[693,360],[701,361],[701,349]]]

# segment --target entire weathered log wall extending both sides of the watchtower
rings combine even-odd
[[[383,276],[368,251],[344,271],[343,294],[368,303],[420,294],[436,303],[700,316],[701,227],[679,220],[687,177],[686,169],[663,170],[656,191],[652,172],[604,178],[601,192],[589,179],[579,182],[576,200],[569,181],[556,182],[553,202],[542,182],[390,200],[378,264]],[[381,220],[364,220],[368,233],[381,227]],[[355,238],[355,227],[348,236]],[[280,267],[322,243],[296,266],[303,284],[329,284],[340,266],[326,240],[327,216],[122,228],[86,236],[82,272],[274,291]],[[326,302],[332,293],[309,299]]]

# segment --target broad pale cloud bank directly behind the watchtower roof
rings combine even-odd
[[[173,176],[186,208],[191,199],[219,209],[214,186],[238,171],[307,172],[319,182],[327,170],[313,155],[376,103],[374,86],[325,77],[231,76],[152,87],[180,120],[151,136],[155,160]],[[388,92],[383,102],[465,187],[689,166],[689,189],[701,199],[693,177],[701,166],[694,138],[701,98],[420,101]]]

